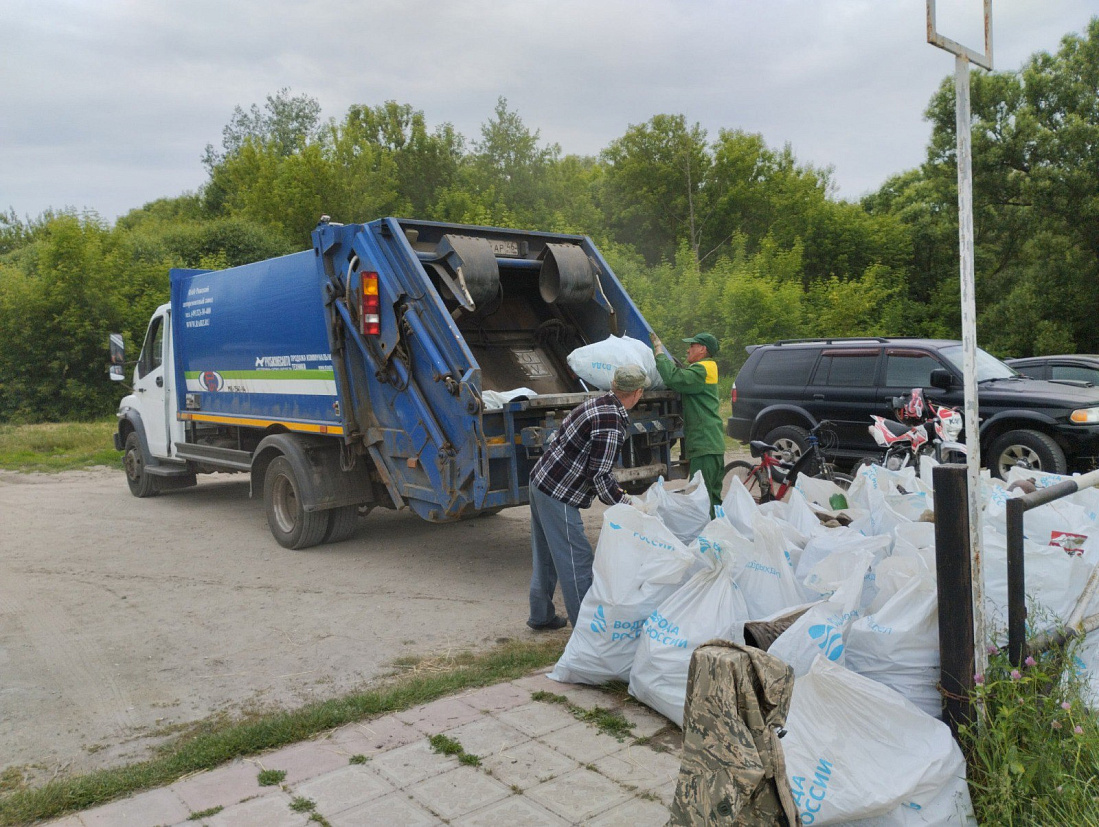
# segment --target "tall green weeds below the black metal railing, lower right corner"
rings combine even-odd
[[[1020,669],[996,652],[976,677],[983,726],[959,737],[978,823],[1099,824],[1099,722],[1076,669],[1072,649]]]

